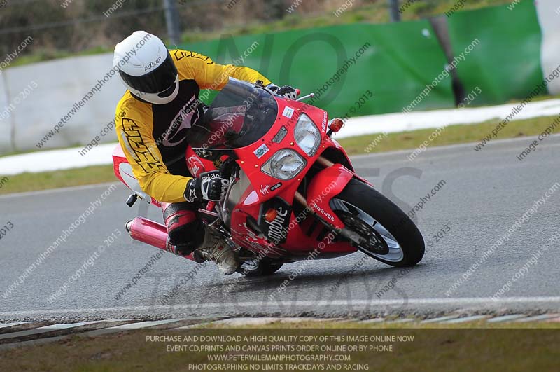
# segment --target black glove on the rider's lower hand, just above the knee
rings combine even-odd
[[[202,202],[212,200],[219,202],[225,198],[225,193],[230,186],[230,180],[220,176],[220,172],[204,172],[199,178],[190,179],[185,189],[185,200],[188,202]]]

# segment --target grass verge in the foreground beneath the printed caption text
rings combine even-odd
[[[357,324],[356,322],[321,322],[318,324],[315,322],[290,326],[272,324],[270,328],[266,329],[128,331],[109,336],[97,336],[97,338],[72,336],[53,343],[7,350],[0,352],[0,362],[3,370],[6,371],[356,370],[356,368],[344,368],[344,365],[369,366],[367,369],[364,367],[358,369],[360,371],[557,370],[554,368],[557,368],[560,359],[557,352],[557,345],[560,341],[558,324],[549,325],[554,329],[507,329],[506,325],[489,326],[487,324],[488,329],[468,329],[476,324],[462,324],[447,329],[435,329],[431,325],[402,328],[401,324],[398,329],[387,329],[380,328],[379,324]],[[309,329],[308,327],[318,328]],[[360,327],[360,329],[352,329],[353,327]],[[174,336],[174,338],[162,339],[162,336]],[[198,338],[193,338],[195,336]],[[264,338],[251,340],[251,336]],[[279,339],[279,337],[287,336],[296,338]],[[311,338],[304,340],[300,338],[302,336]],[[323,341],[319,341],[321,336]],[[350,341],[351,336],[367,338]],[[376,338],[372,340],[372,336],[376,336]],[[228,337],[237,337],[237,339],[228,339]],[[344,339],[340,337],[344,337]],[[383,337],[386,338],[381,339]],[[388,337],[394,338],[388,339]],[[293,345],[294,350],[273,350],[271,348],[273,345],[281,347]],[[296,350],[296,347],[300,345],[306,346],[307,349]],[[330,347],[346,345],[346,350],[325,351],[320,350],[321,345]],[[363,346],[361,350],[349,349],[349,346],[359,345]],[[392,345],[390,350],[387,349],[388,345]],[[385,350],[372,351],[371,346],[384,346]],[[198,350],[190,347],[198,347]],[[246,347],[253,347],[253,350],[247,350]],[[314,347],[316,348],[314,349]],[[241,359],[242,357],[267,357],[267,355],[295,355],[309,358],[329,354],[347,355],[350,359],[346,359],[346,361],[309,361],[309,359],[307,361],[262,361],[262,359],[261,361],[248,361],[251,359]],[[210,361],[209,356],[211,355],[231,359],[229,359],[230,361]],[[239,359],[233,359],[235,357]],[[341,367],[335,368],[337,364]],[[255,365],[260,367],[255,368]],[[206,366],[209,368],[205,368]],[[222,368],[218,366],[222,366]],[[245,368],[242,368],[243,366]],[[297,368],[297,366],[316,366],[316,368]]]

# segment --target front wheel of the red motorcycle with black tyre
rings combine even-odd
[[[344,226],[361,238],[357,247],[391,266],[414,266],[424,255],[424,240],[414,222],[371,186],[351,179],[332,198],[332,210]]]

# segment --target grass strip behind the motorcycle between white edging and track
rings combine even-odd
[[[539,135],[555,118],[555,116],[548,116],[516,120],[501,130],[497,139]],[[473,125],[449,125],[444,128],[444,131],[439,137],[436,137],[429,143],[429,146],[478,142],[488,135],[493,128],[496,128],[497,123],[498,120],[496,119]],[[344,128],[342,128],[342,130],[344,131]],[[424,141],[427,141],[433,131],[434,129],[430,128],[390,133],[386,138],[379,137],[379,134],[363,135],[343,138],[340,139],[339,142],[350,155],[405,149],[411,149],[412,152]],[[372,146],[372,144],[375,145]],[[522,149],[519,151],[521,150]],[[3,179],[8,180],[2,181]],[[0,194],[99,184],[115,180],[116,177],[113,174],[113,167],[111,165],[99,165],[55,172],[24,173],[7,177],[0,176]]]

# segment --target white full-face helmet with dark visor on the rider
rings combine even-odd
[[[153,104],[172,102],[179,93],[179,74],[158,36],[135,31],[115,47],[113,67],[133,95]]]

